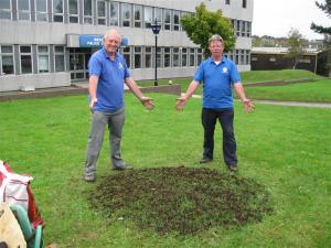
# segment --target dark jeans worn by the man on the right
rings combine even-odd
[[[229,164],[237,164],[236,140],[234,136],[233,108],[207,109],[203,108],[201,114],[202,126],[204,129],[203,157],[213,159],[214,157],[214,131],[218,119],[223,130],[223,159]]]

